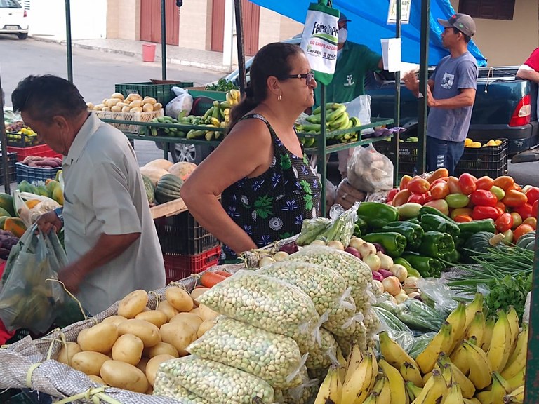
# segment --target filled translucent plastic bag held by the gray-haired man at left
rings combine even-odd
[[[6,263],[8,276],[0,290],[0,319],[8,330],[46,332],[64,301],[62,285],[54,280],[67,257],[58,248],[55,234],[34,234],[36,229],[32,226],[25,231]]]

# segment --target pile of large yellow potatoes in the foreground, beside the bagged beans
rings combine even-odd
[[[218,313],[194,302],[207,288],[189,294],[168,286],[157,309],[148,294],[135,290],[121,300],[117,315],[79,332],[57,360],[86,373],[93,382],[151,394],[159,364],[187,356],[187,346],[213,327]]]

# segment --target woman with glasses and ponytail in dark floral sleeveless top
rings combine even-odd
[[[298,234],[304,219],[317,216],[320,182],[293,127],[314,104],[316,87],[299,46],[261,48],[229,133],[183,185],[189,212],[228,257]]]

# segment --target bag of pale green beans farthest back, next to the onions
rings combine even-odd
[[[373,278],[371,269],[350,253],[324,245],[307,245],[297,253],[289,255],[285,261],[310,262],[335,269],[342,278],[345,278],[347,286],[352,288],[356,307],[362,307],[368,299],[365,290]]]

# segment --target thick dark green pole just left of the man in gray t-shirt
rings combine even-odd
[[[418,102],[418,170],[425,173],[427,148],[427,86],[429,80],[429,15],[430,0],[421,1],[421,41],[419,67],[419,102]]]

